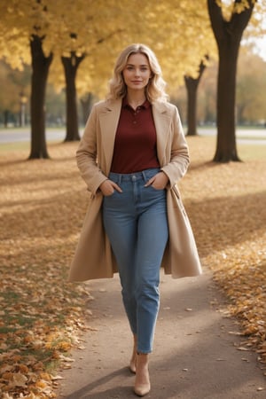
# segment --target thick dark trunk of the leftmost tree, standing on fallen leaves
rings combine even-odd
[[[49,158],[45,140],[45,90],[52,54],[45,57],[43,39],[33,35],[30,41],[32,57],[31,79],[31,151],[29,160]]]

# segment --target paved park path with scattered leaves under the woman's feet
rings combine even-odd
[[[134,399],[129,326],[121,305],[120,284],[90,281],[95,298],[90,327],[59,399]],[[206,271],[199,278],[173,279],[161,274],[160,314],[150,361],[153,399],[262,399],[266,379],[252,351],[242,347],[239,327],[225,317],[223,294]]]

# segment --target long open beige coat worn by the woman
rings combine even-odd
[[[69,281],[112,278],[117,271],[102,222],[103,195],[98,187],[110,172],[120,112],[121,100],[102,101],[93,106],[76,153],[78,168],[90,192],[90,202],[71,263]],[[201,273],[200,259],[176,185],[189,165],[188,148],[176,106],[154,102],[153,119],[160,168],[169,178],[169,239],[162,267],[173,278],[197,276]]]

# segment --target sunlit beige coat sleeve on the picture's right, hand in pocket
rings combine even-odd
[[[168,142],[168,163],[161,170],[168,176],[173,187],[185,174],[189,163],[189,150],[184,137],[184,130],[176,106],[172,107],[171,135]]]

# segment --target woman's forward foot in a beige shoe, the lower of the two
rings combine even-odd
[[[134,392],[138,396],[145,396],[151,390],[148,355],[145,353],[137,353],[136,363],[136,379]]]

